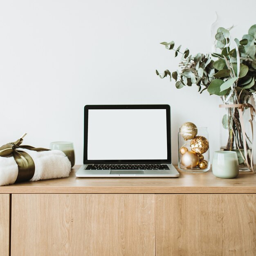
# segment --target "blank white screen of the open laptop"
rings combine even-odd
[[[88,160],[129,159],[167,159],[166,110],[88,110]]]

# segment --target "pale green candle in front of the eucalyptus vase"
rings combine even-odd
[[[216,177],[231,179],[239,173],[238,158],[234,151],[216,151],[213,154],[212,172]]]

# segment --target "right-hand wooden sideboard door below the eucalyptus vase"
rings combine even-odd
[[[156,195],[157,256],[255,256],[255,194]]]

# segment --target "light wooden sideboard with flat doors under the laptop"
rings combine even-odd
[[[0,187],[1,256],[255,256],[256,174]]]

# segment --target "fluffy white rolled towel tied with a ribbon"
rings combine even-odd
[[[71,163],[60,150],[34,151],[25,148],[35,163],[35,173],[31,181],[68,177]],[[0,186],[13,184],[18,176],[18,165],[14,158],[0,157]]]

